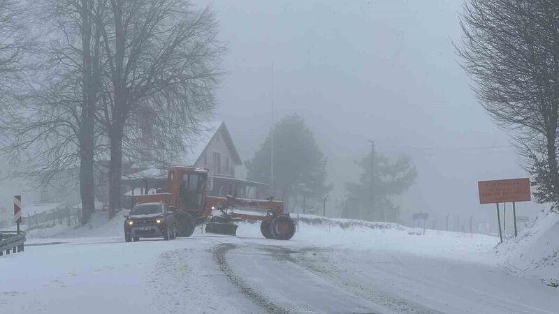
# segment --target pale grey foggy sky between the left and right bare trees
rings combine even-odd
[[[404,220],[420,210],[439,220],[447,211],[493,219],[477,181],[527,174],[512,148],[467,149],[507,146],[510,133],[486,115],[458,65],[451,40],[460,39],[462,3],[196,2],[216,10],[228,43],[218,112],[242,159],[268,133],[273,85],[276,119],[300,114],[328,156],[331,199],[343,199],[344,182],[358,178],[355,160],[374,140],[384,154],[408,154],[418,171],[399,200]]]

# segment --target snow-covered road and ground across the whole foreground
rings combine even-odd
[[[493,262],[492,237],[308,226],[273,241],[256,230],[35,240],[47,245],[0,257],[0,313],[558,312],[559,290]]]

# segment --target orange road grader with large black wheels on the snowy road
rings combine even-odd
[[[134,196],[134,204],[165,202],[173,209],[177,235],[190,237],[196,225],[205,223],[209,233],[235,235],[241,220],[261,220],[260,231],[266,239],[289,240],[295,234],[295,223],[284,213],[284,203],[273,200],[240,199],[208,196],[210,170],[194,167],[169,167],[167,190],[155,194]],[[245,211],[265,211],[247,214]],[[236,211],[236,212],[235,212]],[[215,213],[219,214],[215,214]]]

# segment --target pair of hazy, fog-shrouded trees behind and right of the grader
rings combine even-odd
[[[361,168],[358,181],[345,184],[348,200],[345,204],[349,204],[349,208],[342,209],[340,214],[344,218],[399,222],[400,209],[393,204],[392,197],[412,186],[417,172],[407,156],[391,159],[376,153],[372,172],[375,183],[371,186],[370,158],[369,154],[358,161]],[[289,209],[300,211],[303,206],[307,207],[303,210],[321,206],[324,197],[331,192],[333,185],[327,184],[327,162],[305,120],[293,114],[273,126],[252,160],[245,161],[245,165],[247,179],[267,182],[277,199],[284,200]],[[320,208],[315,212],[322,213]]]

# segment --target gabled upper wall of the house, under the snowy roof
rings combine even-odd
[[[214,163],[214,152],[219,153],[220,155],[221,167],[218,167],[218,165]],[[226,167],[227,159],[229,160],[228,169]],[[220,128],[219,131],[212,137],[212,140],[208,143],[208,147],[205,148],[205,151],[203,151],[201,157],[198,158],[194,167],[206,167],[212,170],[215,175],[235,177],[235,163],[233,161],[233,155],[227,147],[222,128]]]

